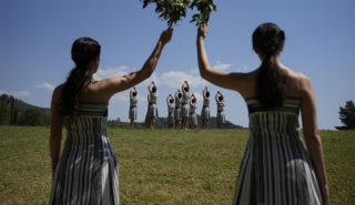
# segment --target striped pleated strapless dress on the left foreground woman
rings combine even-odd
[[[50,205],[118,205],[119,167],[106,135],[108,103],[80,104],[73,125],[64,117],[67,140],[58,162]]]

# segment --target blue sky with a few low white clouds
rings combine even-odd
[[[209,22],[205,48],[211,66],[226,72],[251,72],[260,65],[251,35],[264,22],[276,23],[286,33],[283,64],[307,75],[314,85],[318,126],[342,125],[339,106],[355,101],[355,1],[215,1],[217,12]],[[247,110],[239,93],[216,88],[201,79],[196,60],[196,27],[186,19],[174,27],[151,79],[158,82],[159,113],[165,116],[165,99],[184,80],[200,94],[205,85],[212,95],[226,99],[226,120],[248,125]],[[154,6],[142,9],[139,0],[0,1],[0,94],[12,94],[33,105],[50,107],[53,88],[63,83],[74,66],[70,50],[80,37],[101,44],[97,79],[141,69],[166,23]],[[138,85],[138,121],[146,111],[148,82]],[[115,94],[109,119],[129,121],[129,91]],[[215,115],[215,102],[211,104]],[[201,101],[199,112],[201,110]]]

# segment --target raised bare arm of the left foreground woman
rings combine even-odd
[[[145,61],[143,68],[139,71],[125,74],[123,76],[115,76],[100,81],[100,88],[105,96],[112,96],[116,92],[124,91],[135,84],[141,83],[155,70],[164,45],[171,40],[173,29],[169,28],[163,31],[160,39],[149,59]]]

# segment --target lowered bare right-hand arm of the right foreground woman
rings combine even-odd
[[[314,166],[315,175],[322,195],[323,204],[328,201],[328,186],[325,172],[323,145],[317,125],[317,112],[313,85],[306,76],[302,80],[303,96],[301,102],[301,114],[303,124],[303,135]]]

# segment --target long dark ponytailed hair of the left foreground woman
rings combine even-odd
[[[78,117],[81,92],[88,84],[85,81],[88,65],[93,59],[100,58],[100,52],[101,45],[90,38],[77,39],[71,48],[71,59],[74,61],[75,68],[70,71],[59,102],[61,116],[70,116],[71,124]]]

